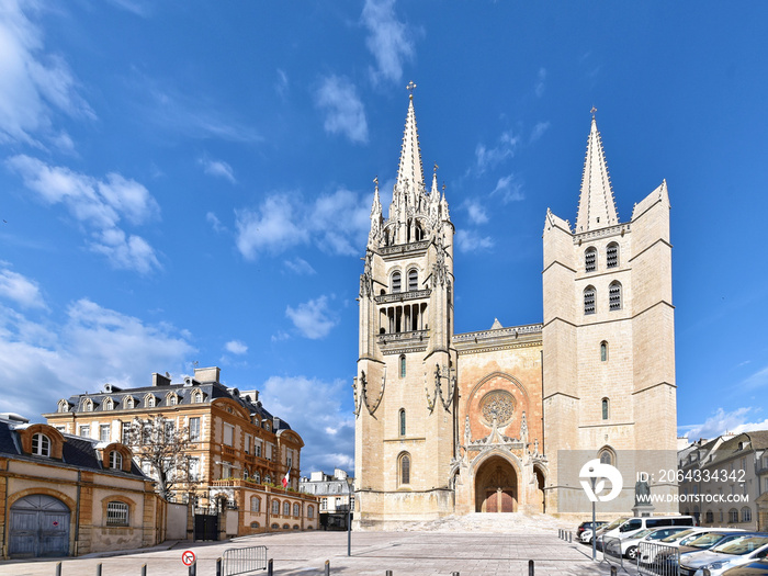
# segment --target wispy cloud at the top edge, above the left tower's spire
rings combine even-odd
[[[365,46],[376,59],[376,69],[371,68],[373,83],[382,79],[399,82],[403,64],[414,59],[414,39],[422,31],[415,31],[397,20],[395,0],[365,0],[361,19],[370,33]]]

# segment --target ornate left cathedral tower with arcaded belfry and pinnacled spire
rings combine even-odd
[[[425,185],[413,98],[386,219],[374,181],[360,276],[354,467],[362,526],[453,511],[454,228],[437,166],[431,190]]]

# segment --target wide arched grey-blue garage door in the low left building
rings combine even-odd
[[[44,494],[34,494],[14,502],[11,506],[9,549],[14,557],[67,556],[67,505]]]

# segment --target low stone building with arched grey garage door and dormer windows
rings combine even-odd
[[[166,502],[131,449],[0,416],[2,557],[77,556],[165,540]]]

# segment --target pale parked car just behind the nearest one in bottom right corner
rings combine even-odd
[[[768,534],[745,532],[724,544],[710,550],[688,554],[680,558],[680,576],[703,576],[708,569],[711,576],[720,576],[735,566],[749,564],[768,556]]]

